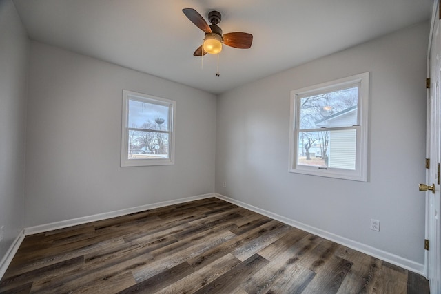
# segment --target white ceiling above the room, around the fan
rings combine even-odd
[[[427,20],[431,0],[14,0],[31,39],[214,94]],[[183,8],[222,14],[250,49],[193,56],[203,31]],[[207,21],[208,22],[208,21]]]

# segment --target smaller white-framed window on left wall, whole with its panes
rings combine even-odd
[[[121,167],[174,164],[175,102],[123,90]]]

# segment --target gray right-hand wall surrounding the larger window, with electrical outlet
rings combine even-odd
[[[428,36],[422,23],[220,95],[216,192],[424,264]],[[289,173],[289,92],[362,72],[371,73],[369,182]]]

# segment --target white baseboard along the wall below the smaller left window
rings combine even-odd
[[[146,204],[146,205],[141,205],[139,207],[121,209],[118,211],[99,213],[99,214],[95,214],[93,216],[83,216],[82,218],[73,218],[71,220],[61,220],[60,222],[51,222],[50,224],[40,224],[38,226],[25,228],[24,231],[25,231],[25,235],[34,235],[37,233],[43,233],[43,232],[47,232],[47,231],[53,231],[53,230],[57,230],[57,229],[72,227],[72,226],[76,226],[78,224],[85,224],[88,222],[96,222],[97,220],[106,220],[107,218],[116,218],[118,216],[125,216],[130,213],[136,213],[136,212],[140,212],[140,211],[146,211],[148,209],[166,207],[169,205],[180,204],[180,203],[190,202],[190,201],[194,201],[194,200],[201,200],[201,199],[210,198],[210,197],[216,197],[216,194],[209,193],[209,194],[205,194],[205,195],[192,196],[192,197],[181,198],[181,199],[170,200],[170,201],[163,201],[163,202],[158,202],[158,203],[154,203],[154,204]]]

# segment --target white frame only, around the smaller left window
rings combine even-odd
[[[168,158],[128,158],[129,149],[129,101],[141,101],[144,103],[151,103],[156,105],[163,105],[168,107],[168,121],[169,126],[169,143],[168,143]],[[143,167],[150,165],[174,165],[174,141],[175,141],[175,109],[176,101],[165,98],[160,98],[148,94],[123,90],[123,115],[121,126],[121,167]]]

